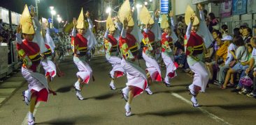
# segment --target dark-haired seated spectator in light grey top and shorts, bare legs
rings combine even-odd
[[[242,37],[236,37],[233,40],[234,44],[236,45],[237,49],[236,51],[229,51],[232,53],[232,56],[234,57],[234,61],[236,61],[236,65],[233,67],[230,66],[229,70],[227,71],[227,75],[225,77],[225,83],[222,85],[222,89],[226,89],[227,86],[234,86],[234,79],[232,78],[230,83],[229,78],[231,78],[231,75],[238,72],[239,70],[246,70],[248,68],[248,65],[246,65],[248,60],[248,50],[246,49],[246,46],[243,42]]]

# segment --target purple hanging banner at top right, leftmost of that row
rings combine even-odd
[[[230,17],[232,13],[232,1],[222,2],[220,5],[220,17]]]

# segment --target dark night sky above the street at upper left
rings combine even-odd
[[[66,21],[69,19],[69,22],[71,22],[73,17],[78,18],[82,7],[84,11],[95,11],[97,8],[95,8],[94,3],[97,3],[97,1],[98,0],[40,0],[40,3],[38,3],[39,17],[51,17],[49,6],[54,6],[55,11],[63,20]],[[36,6],[35,0],[1,0],[0,6],[21,14],[26,3],[27,6],[31,4]],[[56,18],[57,17],[54,19],[56,20]]]

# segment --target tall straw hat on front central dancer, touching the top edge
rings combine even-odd
[[[122,6],[119,9],[118,17],[120,19],[120,22],[124,24],[125,17],[128,21],[128,26],[134,26],[134,19],[132,18],[132,12],[131,12],[131,6],[129,0],[125,0],[124,3],[122,3]]]

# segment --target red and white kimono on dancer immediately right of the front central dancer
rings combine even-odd
[[[153,81],[162,81],[161,69],[157,63],[157,60],[155,60],[153,56],[153,51],[156,48],[154,33],[145,29],[143,32],[142,42],[144,44],[142,56],[145,60],[145,65],[147,66],[147,69],[145,70],[149,72]]]

